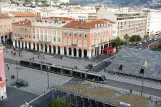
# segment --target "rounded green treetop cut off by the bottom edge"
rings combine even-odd
[[[70,107],[69,103],[64,100],[53,100],[46,107]]]

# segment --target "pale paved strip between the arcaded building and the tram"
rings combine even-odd
[[[37,54],[31,53],[31,52],[27,52],[27,51],[22,51],[21,55],[22,57],[19,57],[18,52],[16,53],[15,56],[13,56],[11,54],[11,49],[8,49],[7,51],[5,50],[5,54],[4,54],[4,58],[8,58],[8,59],[14,59],[17,61],[20,61],[22,59],[25,60],[29,60],[30,58],[33,59],[35,61],[41,61],[41,57],[38,58]],[[43,55],[42,55],[43,56]],[[42,61],[43,62],[47,62],[47,63],[51,63],[53,65],[61,65],[61,66],[66,66],[66,67],[71,67],[74,68],[74,66],[77,66],[77,68],[79,70],[86,70],[85,67],[88,64],[93,64],[96,65],[96,62],[90,62],[90,61],[86,61],[86,60],[76,60],[76,59],[72,59],[72,58],[68,58],[68,57],[63,57],[61,58],[56,58],[56,56],[51,56],[51,55],[46,55],[44,54],[44,56],[42,57]]]

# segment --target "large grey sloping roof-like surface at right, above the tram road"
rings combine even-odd
[[[144,72],[145,78],[161,80],[160,58],[161,52],[126,47],[122,48],[114,57],[108,71],[142,77],[143,74],[140,74],[140,69],[144,61],[147,60],[148,65]],[[122,70],[118,69],[120,65],[123,66]]]

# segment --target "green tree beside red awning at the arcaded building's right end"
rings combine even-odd
[[[117,37],[116,39],[113,39],[113,40],[111,41],[111,44],[112,44],[113,47],[116,48],[116,51],[118,51],[118,48],[119,48],[120,46],[124,45],[124,41],[121,40],[119,37]]]

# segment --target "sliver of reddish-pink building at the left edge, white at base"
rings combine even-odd
[[[3,48],[0,47],[0,100],[6,98],[6,77],[4,72]]]

